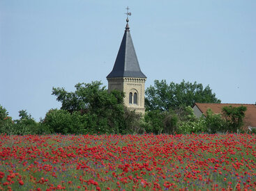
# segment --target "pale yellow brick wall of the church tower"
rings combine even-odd
[[[146,78],[107,78],[108,90],[120,90],[125,93],[124,104],[130,110],[135,110],[142,114],[145,113],[144,99],[145,99],[145,81]],[[130,92],[137,93],[137,104],[129,103]]]

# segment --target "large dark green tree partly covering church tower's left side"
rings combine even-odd
[[[52,94],[57,96],[57,101],[61,101],[61,110],[66,110],[70,114],[80,112],[90,133],[131,132],[130,127],[137,124],[133,120],[137,120],[138,117],[130,117],[137,114],[125,110],[124,93],[118,90],[107,92],[105,86],[101,85],[99,81],[78,83],[75,85],[75,92],[53,88]]]

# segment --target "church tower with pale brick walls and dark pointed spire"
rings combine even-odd
[[[127,8],[128,11],[129,8]],[[130,110],[138,113],[145,113],[145,81],[146,76],[140,70],[136,52],[133,46],[133,40],[130,35],[129,19],[127,14],[126,31],[123,34],[123,40],[116,56],[116,61],[112,72],[108,74],[108,90],[120,90],[125,93],[124,104]]]

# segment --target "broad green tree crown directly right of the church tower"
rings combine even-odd
[[[189,83],[184,80],[181,83],[165,80],[154,81],[154,85],[146,89],[146,110],[176,110],[180,107],[193,106],[198,103],[220,103],[209,87],[203,87],[202,83]]]

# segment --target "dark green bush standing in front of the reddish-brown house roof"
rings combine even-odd
[[[241,132],[243,126],[243,119],[246,117],[245,106],[232,107],[225,106],[223,107],[223,117],[225,117],[228,123],[228,130],[232,132]]]

